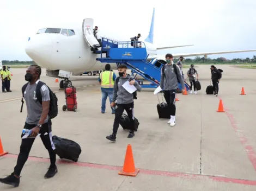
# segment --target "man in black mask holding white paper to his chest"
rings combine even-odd
[[[137,81],[135,81],[134,79],[131,79],[130,75],[126,73],[126,70],[127,70],[126,65],[118,66],[119,77],[115,79],[115,82],[114,82],[114,95],[113,95],[111,107],[115,106],[115,101],[117,101],[117,104],[115,107],[113,133],[106,137],[108,140],[113,142],[115,142],[115,139],[117,138],[117,131],[119,128],[121,115],[123,114],[124,110],[127,112],[127,115],[131,122],[131,130],[129,132],[128,138],[132,138],[133,136],[135,136],[133,94],[127,92],[123,87],[123,84],[126,81],[130,81],[130,85],[134,85],[137,91],[139,92],[141,92],[142,87],[138,84]]]

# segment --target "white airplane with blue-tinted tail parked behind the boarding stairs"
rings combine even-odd
[[[147,39],[141,42],[147,49],[147,53],[149,54],[148,58],[150,58],[150,60],[154,59],[152,62],[153,64],[155,64],[156,62],[166,63],[164,56],[160,58],[157,57],[157,50],[184,46],[157,48],[153,43],[154,17],[155,9],[153,10],[149,35]],[[84,73],[84,71],[98,71],[105,69],[106,63],[96,61],[96,58],[100,58],[100,54],[94,54],[92,51],[92,47],[99,47],[99,41],[97,41],[97,39],[93,35],[93,26],[94,20],[92,18],[86,18],[83,20],[82,26],[77,26],[76,28],[42,28],[38,30],[38,32],[33,37],[29,37],[25,49],[26,53],[38,65],[46,68],[47,76],[54,78],[63,78],[64,80],[60,81],[60,88],[64,88],[69,82],[69,78],[72,75],[80,75]],[[111,34],[112,36],[115,36],[114,32]],[[114,38],[112,38],[111,36],[101,37],[114,40]],[[121,40],[114,41],[129,41],[126,39],[128,38],[124,37]],[[193,44],[185,46],[193,46]],[[256,50],[179,54],[173,56],[174,58],[178,58],[179,56],[185,57],[197,55],[204,55],[206,57],[210,54],[227,54],[254,51]],[[117,68],[117,65],[115,63],[110,63],[110,65],[112,69]]]

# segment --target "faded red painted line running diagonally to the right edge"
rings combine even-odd
[[[222,99],[222,98],[218,97],[218,99]],[[225,104],[223,104],[223,106],[224,105]],[[224,106],[224,111],[230,120],[232,128],[235,130],[237,136],[239,137],[239,140],[243,146],[243,149],[245,150],[249,160],[251,161],[254,170],[256,171],[256,152],[255,152],[255,150],[253,149],[252,145],[249,143],[245,134],[243,134],[243,130],[238,128],[237,122],[236,122],[233,114],[229,113],[229,109],[225,106]]]

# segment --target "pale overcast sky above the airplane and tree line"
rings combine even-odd
[[[147,3],[146,3],[147,2]],[[148,36],[155,8],[154,44],[157,47],[194,44],[161,51],[161,54],[201,53],[256,49],[255,0],[154,0],[154,1],[0,1],[0,59],[31,60],[25,53],[28,37],[40,28],[81,27],[83,18],[94,18],[104,33]],[[210,58],[252,58],[256,52],[210,55]]]

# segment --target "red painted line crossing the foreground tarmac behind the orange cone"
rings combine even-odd
[[[17,158],[18,155],[7,154],[2,157],[3,158]],[[50,162],[49,158],[39,158],[39,157],[32,157],[32,156],[29,156],[28,160],[36,161],[36,162]],[[57,164],[75,165],[77,167],[87,167],[87,168],[93,168],[93,169],[106,169],[106,170],[113,170],[113,171],[119,171],[123,168],[123,167],[118,167],[118,166],[114,166],[114,165],[95,164],[95,163],[87,163],[87,162],[73,162],[73,161],[65,161],[65,160],[57,160]],[[170,172],[170,171],[148,170],[148,169],[139,169],[139,174],[140,173],[145,174],[145,175],[180,177],[180,178],[184,178],[184,179],[193,179],[193,180],[208,179],[208,180],[216,181],[216,182],[225,182],[225,183],[235,183],[235,184],[256,186],[256,181],[253,181],[253,180],[233,179],[233,178],[213,176],[213,175],[175,173],[175,172]]]

